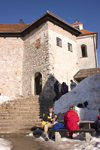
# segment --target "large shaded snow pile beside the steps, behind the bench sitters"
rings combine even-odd
[[[87,77],[76,88],[63,95],[54,104],[54,112],[65,113],[70,105],[77,106],[79,103],[88,101],[87,108],[78,108],[80,120],[96,120],[100,108],[100,74]]]

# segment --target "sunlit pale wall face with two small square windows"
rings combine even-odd
[[[70,79],[79,70],[76,36],[51,22],[48,28],[50,72],[60,83],[70,85]],[[57,46],[56,37],[62,39],[62,47]],[[72,44],[72,52],[68,50],[68,43]]]

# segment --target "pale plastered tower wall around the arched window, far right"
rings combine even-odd
[[[93,35],[77,37],[77,44],[78,44],[78,54],[79,54],[78,55],[79,68],[80,69],[95,68],[96,64],[95,64]],[[82,44],[85,44],[87,46],[88,57],[82,57],[82,52],[81,52]]]

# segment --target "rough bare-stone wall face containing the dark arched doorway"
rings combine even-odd
[[[42,74],[43,99],[50,99],[50,73],[48,51],[48,23],[44,23],[23,38],[23,76],[22,95],[35,94],[35,73]]]

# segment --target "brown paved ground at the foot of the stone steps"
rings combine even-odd
[[[12,142],[12,150],[57,150],[51,142],[41,141],[35,137],[9,137],[6,140]]]

